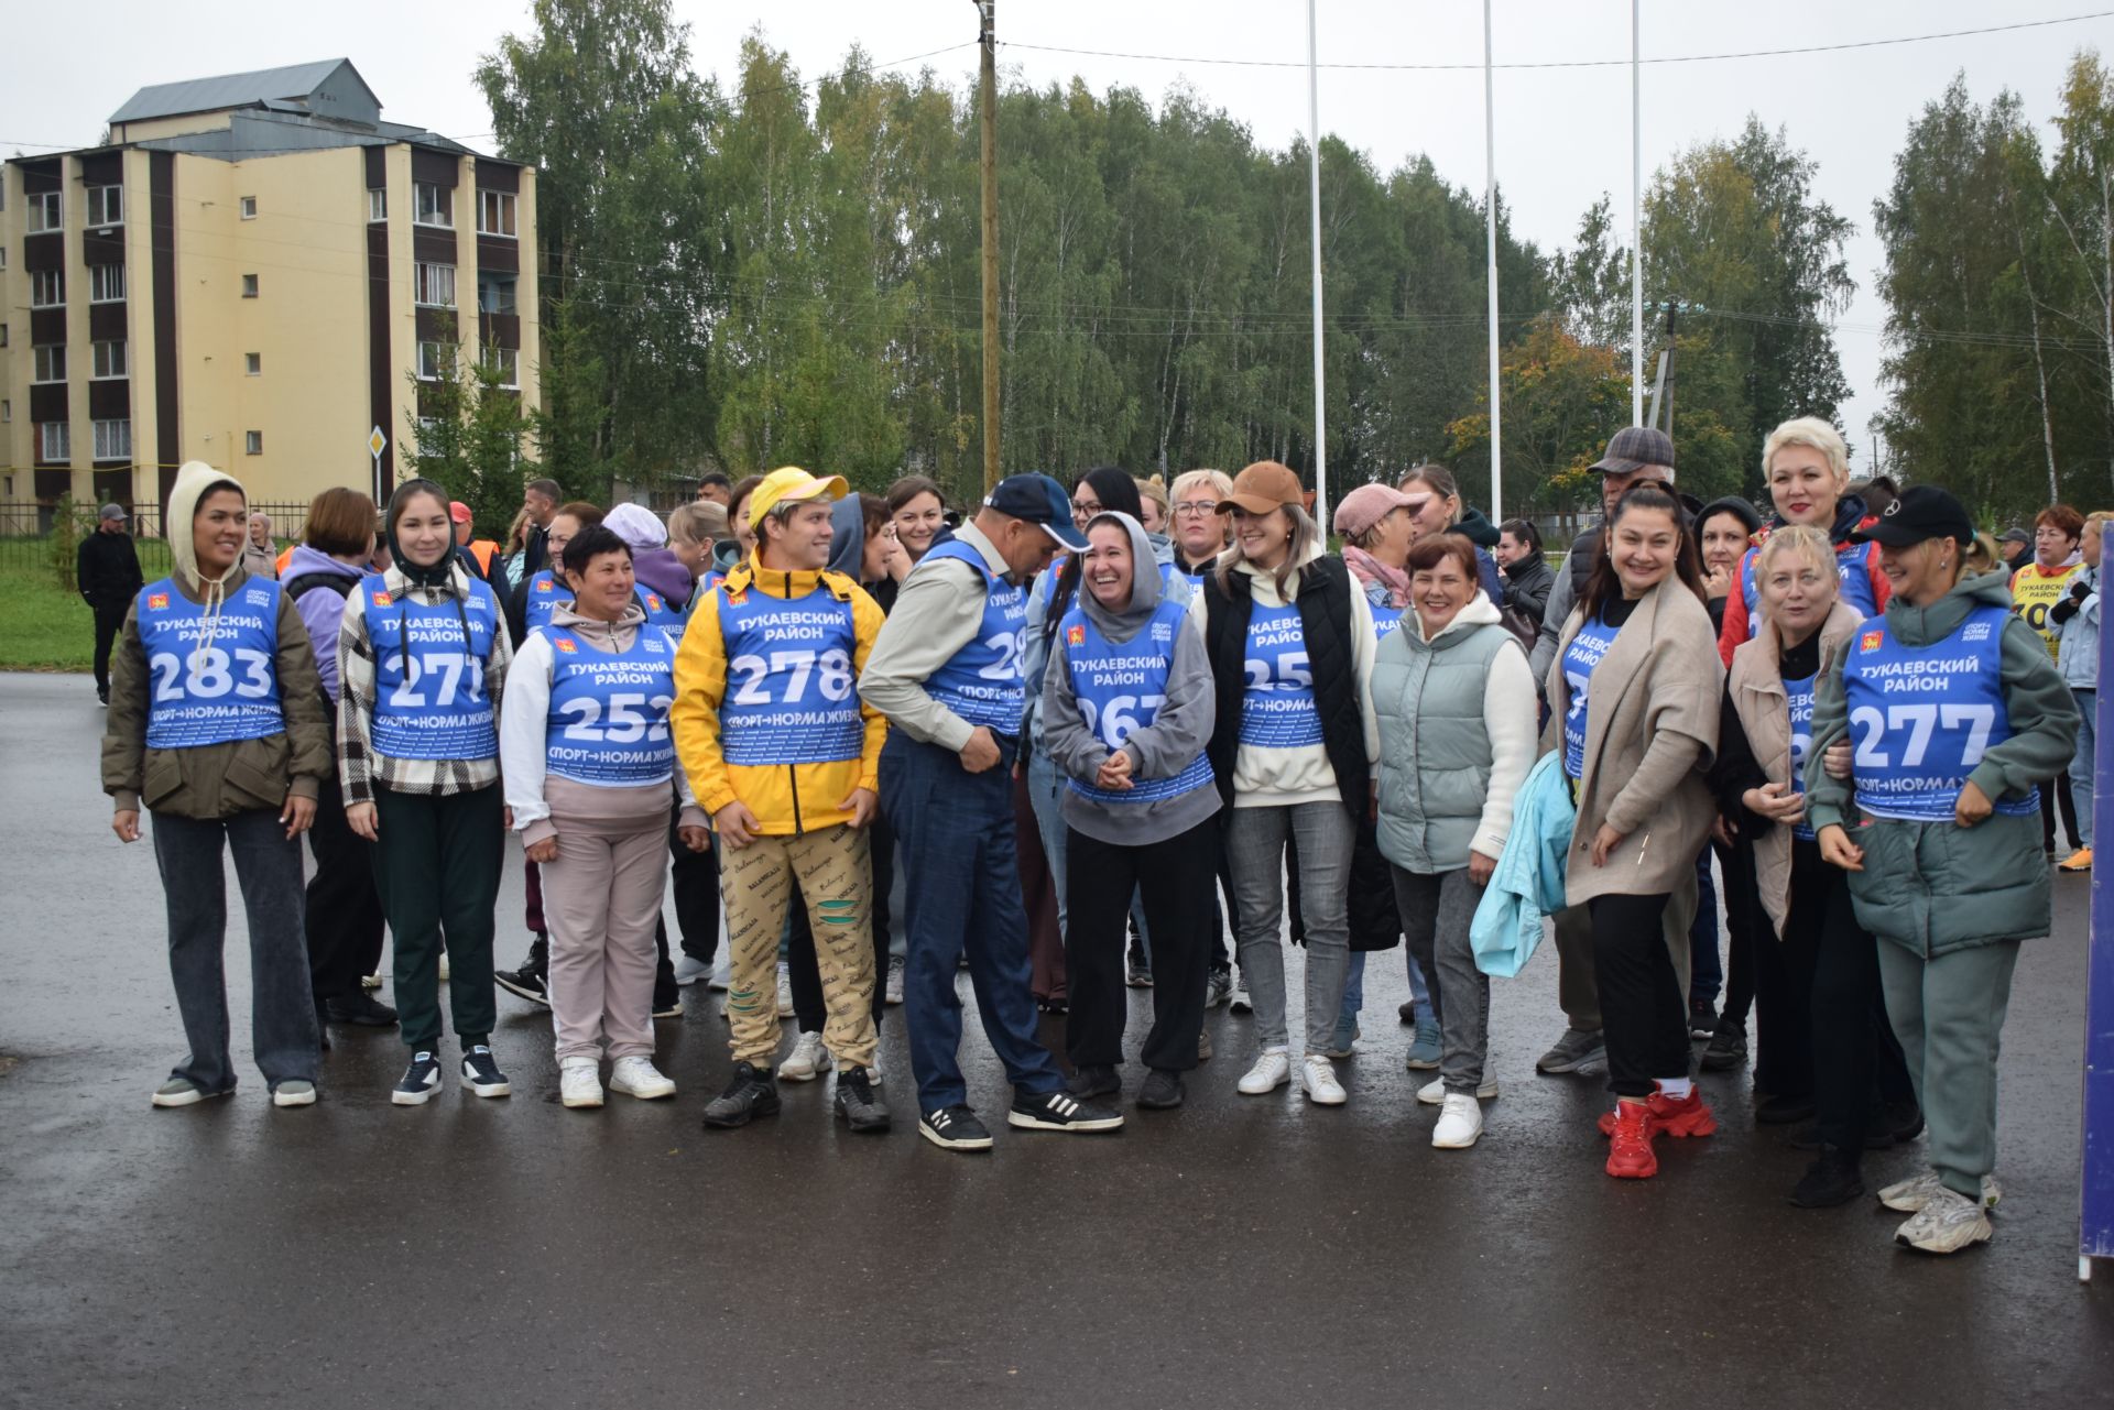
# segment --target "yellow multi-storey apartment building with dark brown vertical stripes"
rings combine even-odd
[[[412,372],[535,404],[535,169],[385,123],[349,59],[140,89],[0,167],[0,503],[154,505],[184,461],[383,499]]]

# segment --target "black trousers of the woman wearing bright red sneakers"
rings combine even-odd
[[[1649,1097],[1657,1078],[1689,1074],[1689,1002],[1659,930],[1670,898],[1594,896],[1586,905],[1607,1076],[1617,1097]]]

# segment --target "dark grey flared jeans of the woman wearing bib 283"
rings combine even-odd
[[[249,1046],[258,1070],[273,1089],[294,1078],[313,1082],[319,1038],[309,956],[300,945],[300,841],[285,835],[275,810],[233,818],[150,816],[169,905],[169,979],[190,1042],[190,1057],[173,1076],[203,1093],[235,1091],[222,958],[228,939],[224,846],[235,854],[235,882],[249,922]]]

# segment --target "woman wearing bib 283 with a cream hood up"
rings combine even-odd
[[[249,1038],[273,1106],[311,1106],[319,1038],[302,951],[300,835],[330,772],[323,687],[300,613],[243,569],[243,486],[190,461],[169,486],[169,577],[125,617],[104,725],[104,793],[118,841],[152,814],[169,903],[169,977],[190,1055],[154,1106],[235,1091],[222,979],[235,854],[249,922]]]

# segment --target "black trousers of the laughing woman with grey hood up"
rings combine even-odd
[[[1139,1057],[1161,1072],[1197,1065],[1211,926],[1218,922],[1218,907],[1211,905],[1216,873],[1216,816],[1135,848],[1065,829],[1063,958],[1072,981],[1065,1051],[1072,1065],[1123,1065],[1123,1025],[1131,1010],[1125,932],[1133,890],[1144,894],[1146,926],[1152,930],[1152,1029]]]

